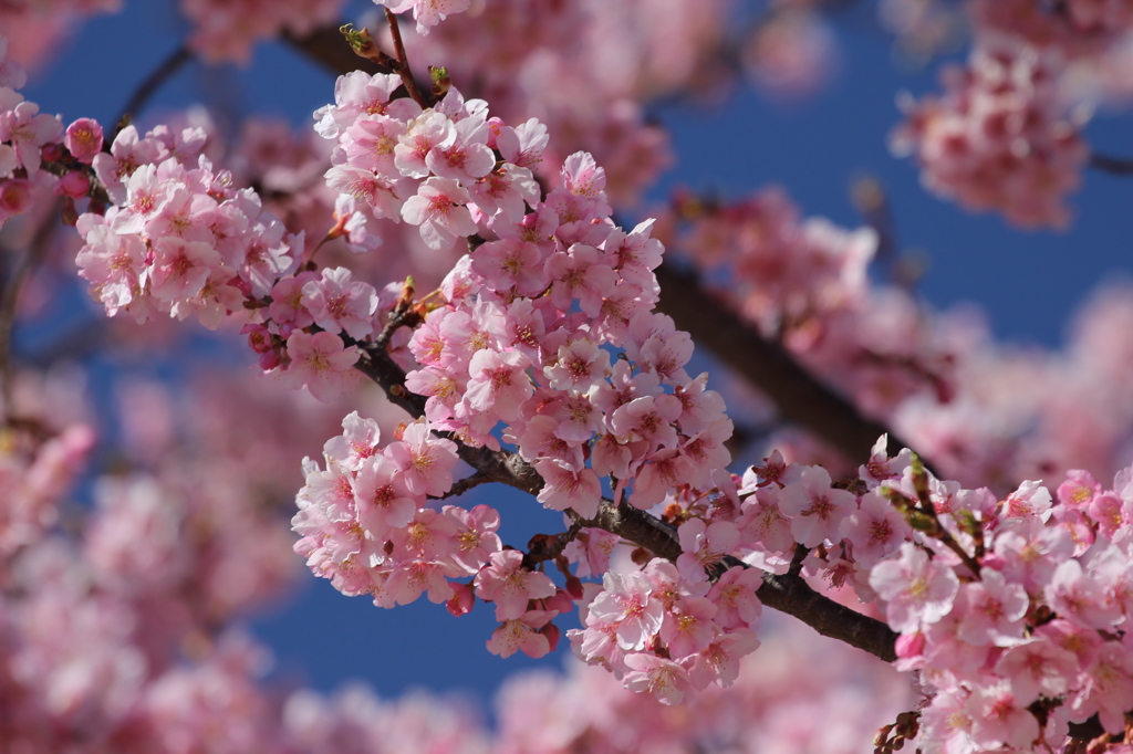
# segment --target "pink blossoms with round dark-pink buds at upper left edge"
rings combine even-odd
[[[7,52],[8,40],[0,36],[0,228],[52,194],[65,197],[65,216],[74,223],[74,200],[91,190],[90,165],[102,148],[102,127],[80,118],[65,128],[58,115],[41,113],[17,91],[27,75]]]

